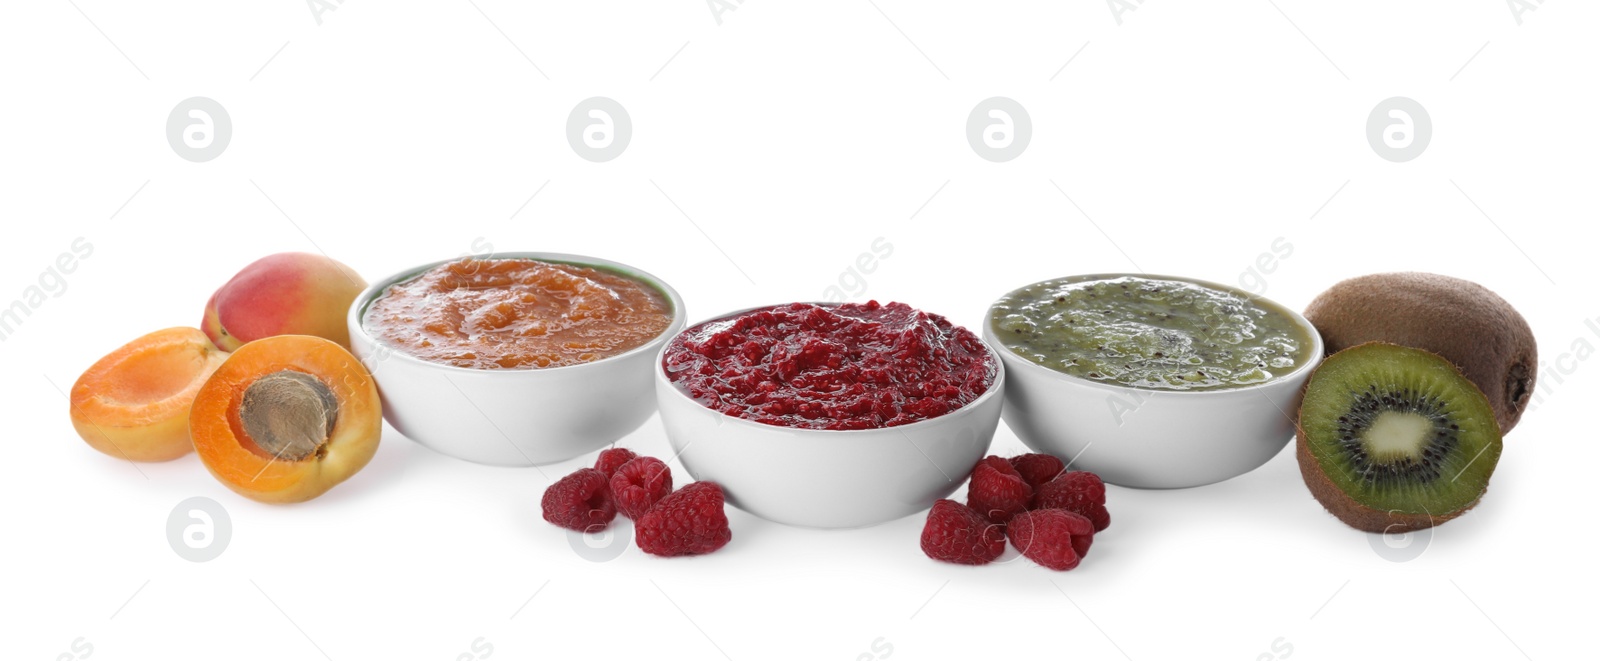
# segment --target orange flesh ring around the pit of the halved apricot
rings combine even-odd
[[[243,435],[238,405],[256,379],[293,370],[315,376],[339,403],[326,443],[301,461],[277,459]],[[302,503],[355,475],[378,453],[382,403],[378,384],[344,347],[315,336],[282,335],[229,355],[195,395],[189,413],[195,451],[206,471],[261,503]]]

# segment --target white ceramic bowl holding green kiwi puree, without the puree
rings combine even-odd
[[[1138,488],[1222,482],[1256,469],[1283,450],[1294,435],[1301,389],[1322,360],[1323,344],[1317,328],[1285,306],[1205,280],[1144,274],[1091,274],[1064,280],[1117,277],[1190,282],[1277,307],[1312,339],[1312,359],[1288,375],[1248,387],[1128,387],[1056,371],[1005,349],[995,338],[990,306],[982,336],[1000,354],[1011,379],[1005,392],[1005,424],[1022,443],[1072,459],[1074,469],[1093,471],[1109,483]]]

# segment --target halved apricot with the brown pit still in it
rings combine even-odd
[[[248,343],[211,375],[189,415],[200,461],[261,503],[301,503],[378,451],[382,405],[366,368],[309,335]]]

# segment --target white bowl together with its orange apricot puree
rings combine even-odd
[[[395,431],[480,464],[538,466],[643,424],[654,357],[685,318],[678,293],[632,266],[499,253],[378,280],[349,326]]]

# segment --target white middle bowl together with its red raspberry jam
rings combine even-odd
[[[1005,373],[973,331],[902,302],[792,302],[674,336],[656,360],[672,450],[758,517],[858,528],[928,509],[981,459]]]

